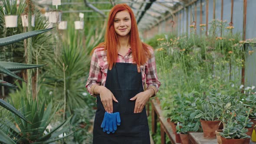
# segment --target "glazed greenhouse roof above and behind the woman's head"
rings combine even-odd
[[[150,29],[166,20],[168,16],[174,14],[175,11],[191,3],[191,0],[62,0],[61,5],[81,5],[91,8],[91,10],[65,10],[63,13],[99,13],[99,17],[107,17],[110,8],[102,9],[99,5],[115,5],[117,3],[128,4],[136,17],[138,28],[140,30]],[[52,0],[36,0],[36,4],[41,6],[52,5]]]

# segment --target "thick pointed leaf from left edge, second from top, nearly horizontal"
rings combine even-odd
[[[23,69],[34,69],[34,68],[39,68],[41,66],[44,66],[44,65],[29,65],[29,64],[16,63],[16,62],[0,62],[0,65],[11,72],[23,70]]]

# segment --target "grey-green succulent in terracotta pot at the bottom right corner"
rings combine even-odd
[[[223,128],[223,132],[220,133],[222,144],[244,144],[246,138],[250,138],[246,134],[248,129],[239,124],[234,117],[236,113],[233,111],[230,113],[231,118],[228,120],[226,127]],[[246,120],[247,121],[247,120]]]

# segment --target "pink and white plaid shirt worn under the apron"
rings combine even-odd
[[[158,92],[158,89],[161,85],[160,81],[158,80],[157,70],[156,70],[156,63],[154,57],[154,51],[151,50],[151,58],[148,59],[144,65],[141,65],[141,76],[143,85],[147,84],[148,88],[154,89],[154,95]],[[118,58],[116,62],[126,62],[126,63],[133,63],[133,58],[131,54],[131,48],[129,48],[127,54],[125,56],[121,56],[118,54]],[[94,89],[96,85],[105,85],[106,78],[108,72],[108,61],[107,55],[104,51],[104,48],[97,48],[94,50],[91,60],[91,67],[89,72],[89,77],[87,79],[86,88],[87,91],[94,95],[91,92],[91,89]]]

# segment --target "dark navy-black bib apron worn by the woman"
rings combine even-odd
[[[141,113],[134,113],[135,100],[130,100],[144,91],[141,72],[137,71],[137,65],[117,62],[112,70],[108,69],[105,87],[118,100],[118,103],[113,101],[113,113],[120,113],[121,125],[117,126],[114,134],[102,131],[100,126],[105,109],[98,95],[93,144],[150,144],[146,109],[144,107]]]

